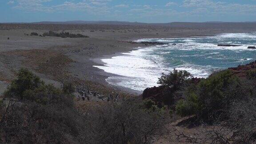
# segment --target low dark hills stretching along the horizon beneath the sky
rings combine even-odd
[[[4,25],[5,24],[5,25]],[[171,23],[139,23],[139,22],[127,22],[127,21],[41,21],[33,23],[2,23],[0,29],[12,29],[12,28],[48,28],[48,24],[53,24],[54,29],[63,29],[64,27],[69,29],[170,29],[170,28],[202,28],[202,29],[222,29],[222,30],[250,30],[256,31],[256,22],[171,22]],[[79,25],[79,26],[78,26]]]

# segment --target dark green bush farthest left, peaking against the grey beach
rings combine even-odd
[[[24,92],[26,90],[32,90],[40,87],[41,85],[44,85],[44,82],[41,81],[38,76],[28,71],[28,69],[21,68],[18,72],[17,78],[12,81],[10,86],[8,86],[4,95],[23,99]]]

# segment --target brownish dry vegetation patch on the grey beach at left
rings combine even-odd
[[[36,72],[51,75],[55,80],[61,80],[69,73],[65,71],[68,64],[74,62],[68,56],[48,49],[32,49],[2,52],[5,56],[21,56],[22,64]]]

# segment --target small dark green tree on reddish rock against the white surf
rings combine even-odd
[[[173,71],[169,74],[162,73],[162,76],[159,78],[157,84],[179,89],[180,85],[182,85],[191,76],[192,75],[187,71],[178,71],[173,69]]]

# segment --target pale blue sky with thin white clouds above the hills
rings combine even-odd
[[[256,21],[256,0],[0,0],[0,22]]]

